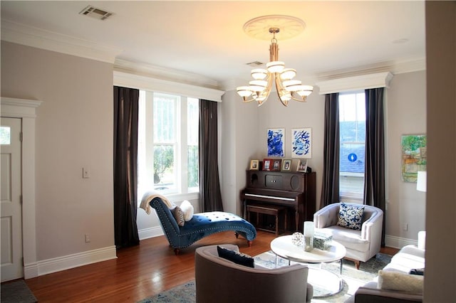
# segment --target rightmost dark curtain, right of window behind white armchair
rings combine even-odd
[[[382,246],[385,246],[385,142],[383,87],[366,90],[366,169],[364,204],[383,211]]]

